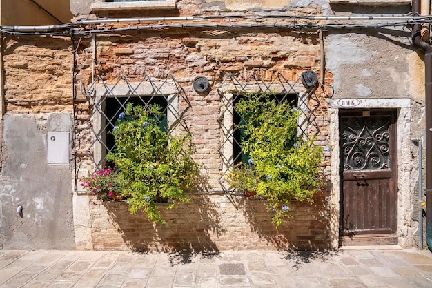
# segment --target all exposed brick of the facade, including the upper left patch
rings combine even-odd
[[[77,87],[88,87],[93,74],[107,83],[114,83],[121,75],[129,81],[140,81],[144,75],[165,79],[172,74],[192,105],[185,121],[197,148],[194,157],[202,166],[202,185],[196,187],[201,193],[190,194],[193,198],[190,203],[163,212],[166,225],[152,225],[142,214],[131,215],[126,203],[100,203],[92,196],[79,195],[89,198],[89,229],[95,249],[217,251],[316,249],[330,245],[326,189],[317,195],[313,205],[293,203],[293,218],[277,230],[264,202],[217,193],[223,171],[219,155],[222,132],[217,122],[222,103],[217,88],[224,76],[232,72],[246,83],[253,73],[264,81],[271,81],[277,73],[289,81],[299,79],[304,70],[319,73],[320,45],[315,31],[170,28],[98,35],[96,40],[97,61],[93,72],[91,42],[76,39]],[[72,113],[71,41],[50,37],[11,37],[5,41],[6,112]],[[210,80],[206,93],[197,93],[192,88],[193,79],[199,75]],[[329,83],[331,74],[326,73],[326,84]],[[78,176],[84,176],[94,169],[85,153],[92,142],[92,132],[84,123],[92,107],[78,88],[75,91],[77,171]],[[320,88],[316,93],[320,103],[317,123],[321,126],[317,145],[328,145],[324,92],[328,91]],[[324,176],[329,174],[328,158],[327,152],[322,167]]]

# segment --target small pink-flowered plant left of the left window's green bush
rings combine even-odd
[[[81,186],[99,200],[105,201],[111,197],[120,196],[119,174],[115,168],[106,167],[100,171],[81,178]]]

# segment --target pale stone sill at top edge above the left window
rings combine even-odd
[[[135,2],[94,2],[93,11],[102,10],[155,10],[175,9],[175,0],[135,1]]]

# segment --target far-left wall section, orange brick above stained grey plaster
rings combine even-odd
[[[0,249],[75,249],[72,166],[47,161],[49,132],[72,138],[70,41],[12,36],[2,44]]]

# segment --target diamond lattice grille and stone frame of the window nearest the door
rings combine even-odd
[[[236,127],[233,119],[241,117],[240,121],[246,120],[235,110],[235,103],[246,94],[271,93],[277,94],[277,101],[282,103],[289,99],[295,99],[297,109],[300,111],[298,119],[298,135],[303,138],[311,138],[320,132],[318,125],[320,101],[315,95],[315,89],[305,90],[300,79],[290,82],[282,74],[278,73],[271,81],[264,81],[258,74],[252,74],[249,79],[240,80],[234,74],[225,76],[217,89],[222,99],[222,112],[218,119],[222,130],[222,144],[219,147],[219,154],[222,158],[224,172],[228,172],[235,163],[242,157],[242,151],[233,152],[233,146],[241,146],[239,139],[235,137]],[[303,90],[304,92],[300,92]],[[219,183],[226,192],[230,187],[224,182],[224,176],[219,178]]]

